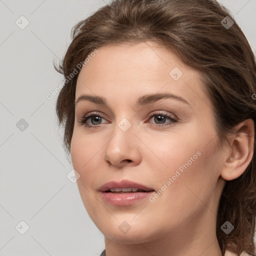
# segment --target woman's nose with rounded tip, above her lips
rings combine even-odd
[[[141,161],[139,143],[141,141],[133,134],[131,127],[124,131],[116,123],[111,138],[104,147],[104,160],[111,165],[121,168],[133,166]]]

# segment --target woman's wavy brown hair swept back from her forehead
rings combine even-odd
[[[231,27],[224,27],[231,24],[226,16],[234,21]],[[151,40],[173,50],[201,73],[213,103],[220,144],[239,122],[251,118],[256,123],[254,54],[232,15],[216,0],[113,0],[78,22],[71,33],[72,42],[55,66],[65,78],[95,48]],[[66,82],[56,101],[58,124],[64,126],[63,142],[69,153],[78,74]],[[226,181],[219,200],[216,235],[223,254],[228,249],[238,255],[242,251],[255,255],[255,140],[251,150],[248,167],[238,178]],[[234,226],[229,234],[220,228],[226,220]]]

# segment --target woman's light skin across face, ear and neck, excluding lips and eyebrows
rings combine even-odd
[[[71,159],[80,175],[83,204],[104,234],[106,255],[220,256],[217,205],[225,180],[239,177],[252,158],[253,121],[237,125],[230,145],[221,148],[212,105],[196,70],[150,41],[98,50],[79,73],[75,100],[81,94],[96,95],[104,97],[108,107],[88,100],[76,103]],[[174,67],[182,71],[177,80],[169,75]],[[162,98],[135,105],[144,94],[165,92],[187,103]],[[96,128],[78,122],[92,112],[101,120],[89,118],[86,123]],[[156,116],[150,117],[153,113]],[[159,114],[177,121],[160,121]],[[131,124],[126,131],[118,126],[123,118]],[[101,185],[122,179],[157,191],[197,151],[200,156],[153,202],[145,198],[117,206],[100,196]],[[130,225],[126,233],[118,228],[123,221]]]

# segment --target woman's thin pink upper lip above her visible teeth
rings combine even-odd
[[[127,180],[127,179],[123,179],[121,181],[109,181],[105,184],[103,184],[102,186],[99,187],[99,191],[105,192],[110,188],[129,188],[129,187],[133,187],[133,188],[141,188],[145,191],[152,191],[154,190],[153,188],[147,187],[145,185],[142,185],[140,183],[131,181],[131,180]]]

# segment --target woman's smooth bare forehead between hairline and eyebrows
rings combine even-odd
[[[150,41],[98,48],[78,75],[75,98],[90,93],[124,102],[156,92],[170,92],[192,104],[207,100],[199,73]]]

